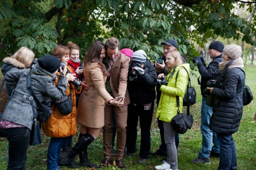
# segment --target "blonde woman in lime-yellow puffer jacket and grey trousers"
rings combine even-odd
[[[164,141],[167,144],[167,160],[162,165],[155,166],[155,169],[177,170],[178,156],[174,141],[175,130],[170,122],[177,115],[176,96],[179,96],[179,101],[183,101],[187,90],[190,65],[182,62],[181,54],[175,49],[167,53],[166,66],[170,71],[166,76],[167,85],[161,85],[160,88],[162,94],[159,100],[158,110],[156,111],[156,118],[164,122]],[[178,77],[176,80],[177,73]],[[159,74],[158,79],[161,79],[163,76],[164,74]],[[179,110],[181,112],[182,106],[182,102],[180,102]]]

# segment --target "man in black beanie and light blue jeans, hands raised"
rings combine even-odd
[[[213,108],[206,105],[206,96],[210,93],[207,93],[207,90],[205,89],[206,87],[213,87],[213,80],[217,80],[220,77],[219,63],[223,61],[223,49],[224,45],[220,41],[213,41],[210,44],[208,53],[210,58],[213,60],[209,63],[208,66],[205,65],[203,56],[197,56],[193,58],[193,62],[197,64],[201,77],[201,82],[198,82],[202,94],[200,126],[200,131],[202,133],[202,150],[199,151],[199,156],[197,159],[191,161],[192,163],[210,164],[210,156],[219,157],[220,155],[220,146],[217,135],[209,129],[211,115],[213,115]]]

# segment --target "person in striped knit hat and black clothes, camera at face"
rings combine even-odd
[[[146,163],[150,151],[150,127],[156,99],[156,71],[144,50],[133,52],[129,67],[127,88],[130,96],[127,117],[127,155],[136,151],[138,118],[141,127],[141,145],[138,163]]]

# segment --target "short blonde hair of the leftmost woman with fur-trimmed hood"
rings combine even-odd
[[[20,47],[18,51],[11,56],[11,58],[22,62],[25,65],[25,68],[28,68],[34,59],[34,52],[28,47]]]

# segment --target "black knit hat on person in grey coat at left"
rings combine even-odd
[[[60,59],[57,56],[46,55],[37,60],[39,66],[44,70],[54,73],[60,68]]]

